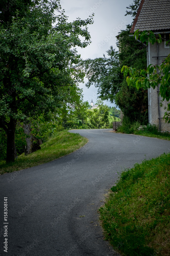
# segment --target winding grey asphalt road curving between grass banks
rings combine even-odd
[[[0,176],[0,255],[118,255],[103,240],[98,222],[104,194],[117,172],[169,152],[170,141],[110,131],[72,130],[89,142],[55,161]],[[3,224],[4,197],[8,224]]]

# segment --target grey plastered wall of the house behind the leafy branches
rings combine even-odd
[[[163,36],[162,36],[163,37]],[[158,58],[153,58],[156,56],[168,56],[170,54],[170,48],[165,48],[164,41],[162,41],[161,44],[158,44],[158,49],[157,49],[157,44],[150,44],[148,43],[148,64],[153,64],[157,65],[157,63],[161,63],[163,61],[163,57]],[[149,105],[150,105],[150,123],[159,125],[159,115],[158,115],[158,91],[159,88],[150,88],[149,89]],[[159,103],[161,102],[162,97],[159,96]],[[165,123],[163,120],[163,116],[165,113],[164,106],[167,105],[167,101],[165,100],[163,102],[163,107],[160,107],[160,120],[161,120],[161,131],[170,131],[170,124]]]

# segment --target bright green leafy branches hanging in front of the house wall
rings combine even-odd
[[[134,37],[136,36],[136,39],[138,39],[140,33],[140,40],[141,42],[146,42],[148,45],[148,42],[151,44],[161,43],[162,39],[160,34],[155,35],[152,31],[142,31],[140,32],[139,29],[135,31]],[[170,35],[169,35],[170,39]],[[168,44],[170,40],[166,42]],[[159,72],[158,72],[159,70]],[[149,65],[146,69],[138,69],[137,67],[128,67],[123,66],[121,72],[124,73],[124,76],[126,77],[129,73],[129,76],[126,77],[126,81],[128,86],[132,86],[134,88],[137,88],[138,90],[140,88],[148,89],[152,87],[155,89],[156,86],[160,84],[160,95],[162,97],[162,101],[166,99],[168,102],[170,100],[170,54],[168,55],[165,60],[160,63],[160,65]],[[165,122],[170,123],[170,103],[167,103],[167,108],[164,115]]]

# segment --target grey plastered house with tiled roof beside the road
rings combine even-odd
[[[170,34],[170,0],[142,0],[130,33],[134,34],[137,29],[152,30],[154,34],[161,34],[161,44],[148,43],[147,46],[147,66],[159,65],[170,54],[169,45],[166,45]],[[148,89],[149,123],[159,126],[161,131],[170,131],[170,124],[163,120],[167,102],[165,100],[160,107],[161,100],[159,86]]]

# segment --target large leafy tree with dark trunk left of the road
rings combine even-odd
[[[68,23],[58,0],[18,3],[21,10],[12,5],[7,17],[0,15],[0,128],[7,134],[7,163],[15,159],[17,120],[40,113],[48,118],[81,94],[77,84],[84,74],[74,67],[80,58],[75,47],[90,44],[87,25],[93,23],[93,15]]]

